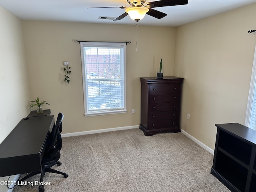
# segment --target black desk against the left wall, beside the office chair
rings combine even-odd
[[[41,171],[48,133],[54,116],[23,118],[0,144],[0,177]]]

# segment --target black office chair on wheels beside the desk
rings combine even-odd
[[[60,159],[60,149],[62,148],[62,139],[60,133],[62,132],[62,120],[64,118],[64,115],[62,113],[58,114],[58,118],[56,120],[55,126],[52,128],[52,132],[49,134],[47,140],[46,140],[46,150],[44,152],[44,156],[42,158],[41,164],[42,164],[42,175],[40,177],[40,182],[43,182],[44,175],[46,172],[61,174],[64,176],[64,178],[68,177],[68,174],[64,172],[60,172],[57,170],[52,169],[51,167],[54,165],[61,165],[61,162],[58,160]],[[40,174],[41,172],[32,172],[25,176],[24,178],[20,179],[19,182],[26,180],[27,178],[30,178],[36,174]],[[44,186],[40,185],[38,187],[40,192],[44,191]]]

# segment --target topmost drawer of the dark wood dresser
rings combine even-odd
[[[149,85],[149,93],[179,93],[180,84],[152,84]]]

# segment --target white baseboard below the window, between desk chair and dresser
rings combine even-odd
[[[134,125],[134,126],[125,126],[125,127],[117,127],[117,128],[98,129],[98,130],[82,131],[82,132],[75,132],[75,133],[64,133],[64,134],[61,134],[61,136],[62,137],[71,137],[71,136],[103,133],[103,132],[110,132],[110,131],[119,131],[119,130],[126,130],[126,129],[136,129],[139,127],[140,127],[139,125]]]

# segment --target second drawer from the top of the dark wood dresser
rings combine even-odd
[[[180,93],[149,94],[149,103],[178,102]]]

